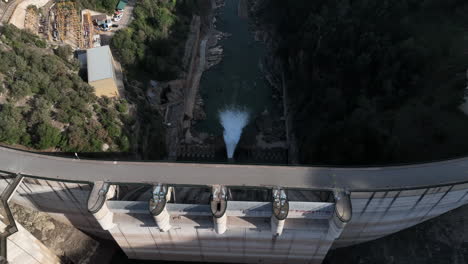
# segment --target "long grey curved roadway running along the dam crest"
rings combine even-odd
[[[0,171],[71,182],[226,185],[349,191],[401,190],[468,182],[468,158],[388,167],[299,167],[60,158],[0,147]]]

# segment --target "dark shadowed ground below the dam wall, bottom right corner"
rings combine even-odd
[[[329,252],[324,264],[468,263],[468,206],[396,234]]]

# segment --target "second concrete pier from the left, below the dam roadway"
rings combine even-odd
[[[171,216],[166,207],[167,202],[171,199],[171,192],[172,187],[158,184],[153,187],[152,197],[149,201],[150,213],[159,229],[163,232],[171,229]]]

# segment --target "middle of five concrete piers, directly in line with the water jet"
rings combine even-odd
[[[217,234],[224,234],[227,230],[227,200],[227,188],[220,185],[213,186],[210,209]]]

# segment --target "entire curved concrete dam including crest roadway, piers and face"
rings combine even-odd
[[[131,259],[321,263],[468,203],[468,158],[333,168],[97,161],[0,147],[1,253],[60,263],[8,202],[115,240]]]

